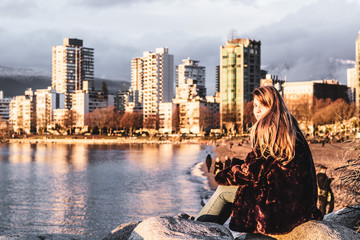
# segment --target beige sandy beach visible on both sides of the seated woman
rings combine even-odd
[[[332,190],[335,196],[335,208],[338,210],[346,206],[353,206],[359,203],[355,201],[354,193],[345,187],[341,187],[341,181],[339,180],[341,173],[339,171],[334,171],[334,169],[341,167],[346,164],[346,161],[355,156],[359,156],[359,151],[352,151],[355,145],[360,143],[332,143],[325,144],[322,147],[321,144],[310,144],[310,149],[313,155],[314,163],[316,166],[316,171],[319,170],[318,165],[324,165],[328,168],[327,174],[329,177],[334,178],[331,183]],[[246,154],[250,151],[251,147],[249,143],[244,143],[242,146],[238,145],[238,142],[234,141],[234,145],[230,148],[229,142],[218,143],[218,146],[214,148],[214,157],[220,157],[221,161],[224,161],[224,157],[228,155],[229,157],[238,157],[244,159]],[[214,162],[214,161],[213,161]],[[211,167],[210,173],[207,172],[205,164],[202,167],[204,174],[209,179],[209,185],[211,188],[215,189],[217,184],[214,181],[213,166]]]

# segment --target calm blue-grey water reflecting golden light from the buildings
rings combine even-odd
[[[0,236],[102,239],[121,223],[196,214],[200,145],[0,145]]]

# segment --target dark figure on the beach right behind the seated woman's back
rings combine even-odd
[[[334,210],[334,194],[331,190],[330,184],[332,178],[329,178],[326,175],[327,167],[321,165],[319,173],[316,175],[318,182],[318,206],[320,211],[326,215],[331,213]],[[328,211],[326,211],[327,206],[329,206]]]

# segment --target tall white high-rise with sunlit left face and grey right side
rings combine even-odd
[[[174,95],[174,56],[169,54],[168,48],[157,48],[155,52],[144,52],[141,59],[138,71],[143,75],[144,128],[153,129],[158,127],[159,103],[171,102]],[[136,82],[134,76],[132,83]]]

